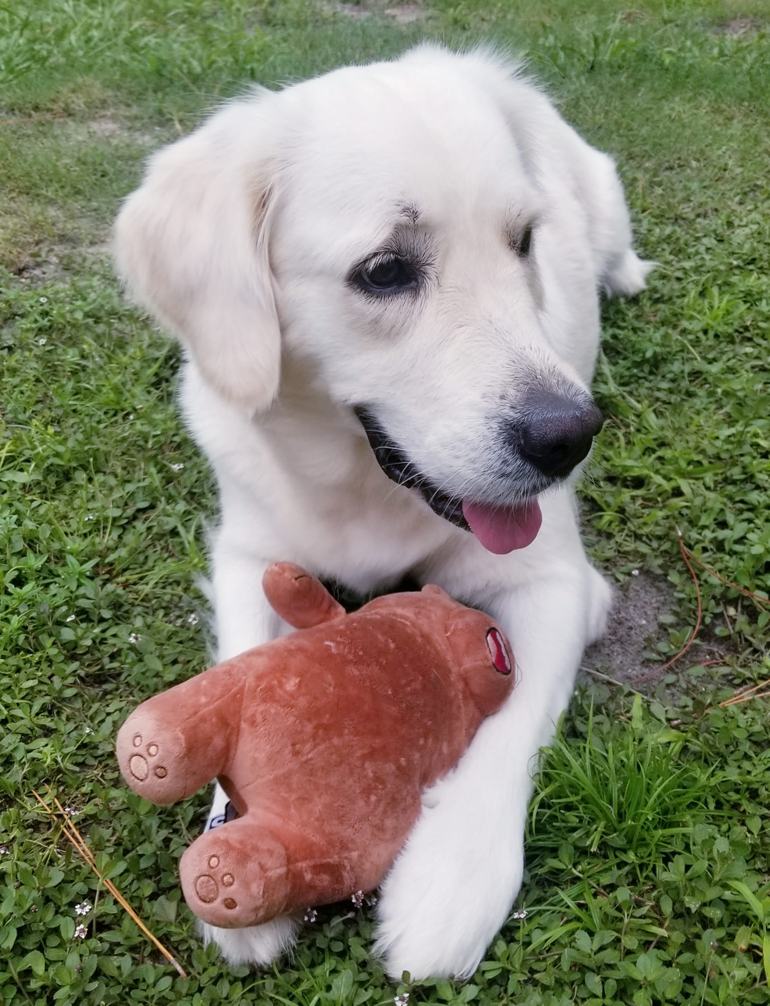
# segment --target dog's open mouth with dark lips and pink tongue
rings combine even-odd
[[[418,492],[439,517],[474,534],[488,551],[499,555],[526,548],[535,540],[543,519],[537,499],[511,506],[494,506],[451,496],[420,472],[368,408],[358,405],[355,412],[377,464],[387,477],[399,486]]]

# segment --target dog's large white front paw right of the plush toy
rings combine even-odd
[[[376,950],[396,979],[405,971],[413,980],[472,975],[522,882],[514,816],[497,808],[488,820],[472,799],[450,801],[436,789],[438,802],[423,810],[379,901]]]

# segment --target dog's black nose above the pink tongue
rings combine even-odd
[[[538,471],[552,478],[569,475],[591,450],[604,420],[586,398],[576,400],[556,393],[533,395],[520,428],[519,452]]]

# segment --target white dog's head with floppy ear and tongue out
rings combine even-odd
[[[117,224],[129,286],[219,393],[267,409],[300,362],[494,551],[535,537],[601,426],[542,311],[538,101],[429,46],[258,92],[156,155]]]

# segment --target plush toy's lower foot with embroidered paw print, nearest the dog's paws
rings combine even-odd
[[[198,918],[222,929],[278,914],[286,897],[286,851],[246,818],[207,831],[179,864],[185,900]]]

